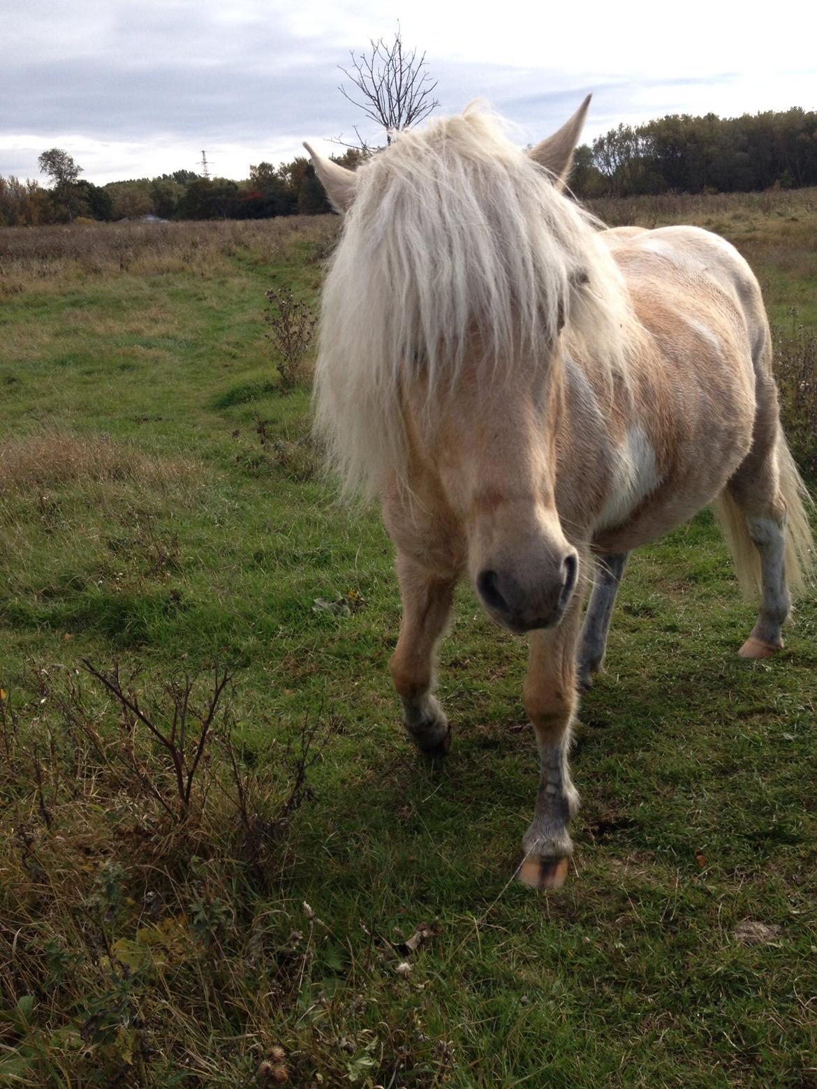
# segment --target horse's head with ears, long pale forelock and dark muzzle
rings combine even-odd
[[[324,296],[319,429],[347,480],[397,480],[431,512],[428,531],[435,510],[441,533],[456,527],[483,602],[514,632],[557,624],[578,574],[557,436],[561,330],[590,232],[559,189],[587,105],[528,155],[476,111],[401,134],[356,172],[309,149],[347,212]]]

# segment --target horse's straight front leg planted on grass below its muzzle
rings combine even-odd
[[[581,596],[570,604],[556,628],[531,633],[525,678],[525,709],[539,749],[539,790],[531,828],[522,841],[524,857],[519,877],[534,889],[559,889],[568,876],[573,843],[568,828],[578,807],[570,778],[568,749],[576,695],[576,643]]]

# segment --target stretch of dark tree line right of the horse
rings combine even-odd
[[[817,112],[673,113],[619,125],[576,150],[578,197],[748,193],[817,185]]]

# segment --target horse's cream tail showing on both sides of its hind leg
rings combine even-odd
[[[785,502],[785,576],[793,597],[805,589],[813,576],[815,546],[808,510],[814,507],[808,489],[794,464],[783,432],[777,444],[778,486]],[[734,560],[743,596],[756,599],[763,590],[760,554],[749,537],[743,511],[729,488],[712,502],[712,512]]]

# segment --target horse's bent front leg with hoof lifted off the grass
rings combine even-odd
[[[432,695],[435,652],[451,612],[455,578],[440,578],[398,553],[398,577],[403,599],[400,638],[389,662],[408,736],[427,756],[444,756],[451,730]]]

